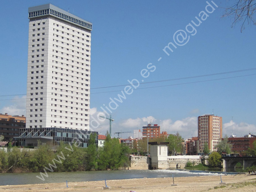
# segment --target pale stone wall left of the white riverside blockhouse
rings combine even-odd
[[[129,169],[149,169],[150,158],[147,156],[130,156]]]

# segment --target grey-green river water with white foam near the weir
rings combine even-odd
[[[45,174],[45,173],[44,173]],[[0,174],[0,185],[61,183],[61,182],[86,182],[113,179],[133,178],[161,178],[161,177],[184,177],[203,175],[223,175],[218,171],[189,171],[189,170],[117,170],[117,171],[78,171],[78,172],[50,172],[47,176],[40,173],[3,173]],[[236,174],[227,172],[227,174]],[[38,177],[41,179],[39,179]],[[44,181],[42,180],[44,178]]]

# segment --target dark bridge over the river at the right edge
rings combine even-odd
[[[223,171],[234,169],[237,163],[241,163],[243,169],[256,165],[256,157],[222,157]]]

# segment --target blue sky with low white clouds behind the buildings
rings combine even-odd
[[[241,23],[232,28],[232,18],[221,17],[225,9],[220,7],[228,6],[229,1],[214,2],[219,8],[209,1],[216,10],[207,13],[206,1],[52,0],[53,5],[93,23],[91,116],[97,118],[101,106],[108,106],[110,98],[116,101],[118,94],[123,94],[125,86],[119,85],[137,79],[145,84],[134,88],[130,95],[124,93],[122,103],[116,101],[112,132],[133,132],[152,120],[162,130],[178,131],[188,138],[197,135],[197,117],[214,112],[223,119],[223,135],[231,135],[232,117],[235,135],[256,133],[256,70],[188,78],[255,68],[256,27],[246,23],[242,33]],[[44,3],[49,0],[1,2],[0,113],[26,114],[28,8]],[[208,10],[211,12],[211,8]],[[202,13],[199,16],[201,11],[209,16],[204,17],[205,21]],[[198,23],[196,16],[201,21],[197,27],[191,22]],[[186,31],[189,23],[196,32],[188,32],[191,26]],[[185,31],[189,40],[183,46],[175,44],[177,49],[171,46],[173,52],[169,50],[168,56],[163,49],[169,42],[174,43],[173,35],[178,30]],[[147,69],[149,63],[155,70],[151,68],[149,77],[143,78],[141,70]],[[183,79],[170,80],[177,78]],[[159,80],[169,81],[148,83]],[[100,88],[107,86],[118,87]],[[107,120],[101,122],[94,130],[105,134],[108,124]],[[129,135],[133,133],[122,136]]]

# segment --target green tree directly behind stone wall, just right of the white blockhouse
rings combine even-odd
[[[176,134],[171,134],[166,138],[168,144],[169,154],[176,155],[177,153],[183,153],[183,142],[184,139],[177,132]]]

